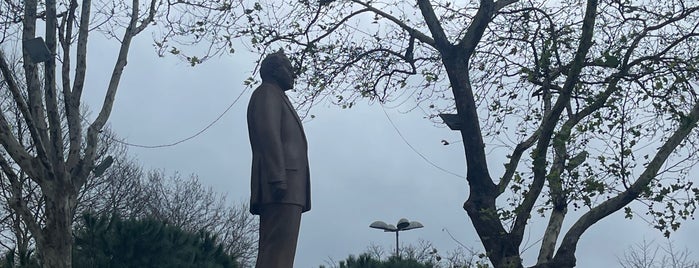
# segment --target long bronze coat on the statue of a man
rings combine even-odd
[[[252,146],[250,212],[260,206],[283,203],[311,209],[308,144],[303,125],[284,91],[263,82],[252,94],[247,113]],[[272,184],[286,182],[286,194],[275,200]]]

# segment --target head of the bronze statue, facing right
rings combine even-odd
[[[277,84],[282,90],[289,90],[294,87],[294,68],[291,61],[284,54],[284,50],[267,55],[260,63],[260,77],[262,82]]]

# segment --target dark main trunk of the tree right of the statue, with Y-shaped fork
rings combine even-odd
[[[499,1],[496,4],[492,0],[481,1],[464,38],[454,45],[446,37],[429,1],[418,1],[423,18],[435,40],[435,48],[441,54],[461,120],[460,132],[467,165],[466,180],[470,186],[469,197],[463,208],[473,222],[488,258],[498,268],[522,267],[519,256],[521,240],[517,240],[505,230],[498,216],[496,199],[500,193],[488,171],[485,144],[469,77],[469,61],[493,14],[498,8],[511,2]]]

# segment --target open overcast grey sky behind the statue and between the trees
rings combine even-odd
[[[114,40],[91,42],[84,94],[96,111],[117,49]],[[245,109],[251,90],[245,90],[242,82],[251,74],[255,59],[244,47],[237,51],[192,68],[172,57],[158,58],[149,34],[138,36],[110,118],[115,133],[130,143],[168,144],[206,127],[242,94],[220,121],[192,140],[166,148],[129,149],[145,168],[197,174],[204,185],[227,194],[231,202],[249,198],[251,153]],[[419,111],[402,113],[405,108],[387,109],[387,113],[408,142],[441,168],[465,174],[461,145],[440,142],[458,141],[458,133],[434,125]],[[395,223],[402,217],[425,227],[401,233],[401,243],[424,239],[445,253],[458,246],[444,231],[448,230],[461,243],[482,250],[461,208],[467,198],[465,179],[435,168],[411,150],[381,106],[363,103],[342,110],[321,103],[311,113],[316,118],[307,120],[305,130],[313,207],[302,218],[294,267],[317,268],[330,259],[361,253],[371,243],[390,252],[394,236],[368,225],[375,220]],[[490,156],[493,177],[500,176],[503,159]],[[569,215],[567,226],[575,215]],[[525,264],[535,262],[547,218],[533,216],[532,221],[526,239],[534,246],[525,253]],[[699,226],[689,221],[672,240],[678,248],[695,252],[696,259],[696,237]],[[617,256],[643,239],[665,242],[639,217],[629,221],[621,213],[614,214],[583,235],[576,255],[578,267],[618,267]]]

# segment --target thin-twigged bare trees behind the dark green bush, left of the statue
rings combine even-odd
[[[166,177],[161,171],[146,176],[139,163],[128,156],[125,145],[107,129],[100,135],[101,159],[113,157],[114,163],[100,176],[90,179],[81,189],[74,224],[81,223],[81,215],[119,215],[126,219],[156,218],[190,232],[206,230],[217,235],[227,254],[234,256],[242,267],[251,267],[257,240],[257,221],[248,213],[245,203],[228,204],[223,194],[201,185],[196,176]],[[7,200],[20,198],[27,202],[36,219],[43,217],[41,192],[29,178],[24,177],[22,196],[15,197],[13,185],[0,174],[2,194]],[[9,204],[9,201],[8,201]],[[15,255],[15,263],[24,265],[35,258],[35,243],[29,230],[14,210],[0,210],[4,217],[0,241],[8,254]],[[74,228],[78,228],[77,226]]]

